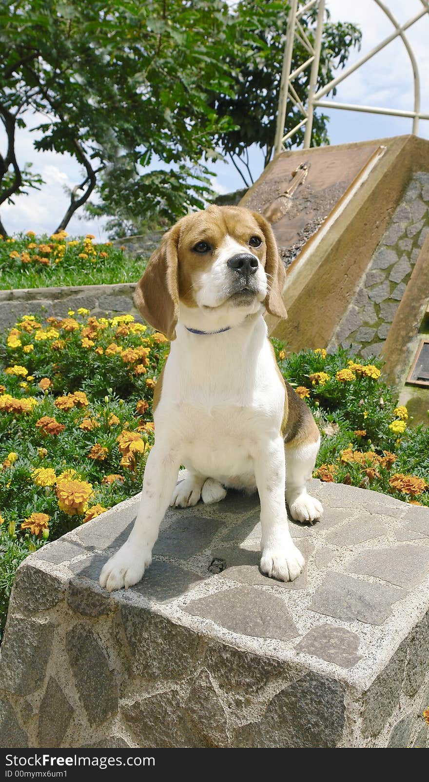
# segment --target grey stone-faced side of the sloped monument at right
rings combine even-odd
[[[381,353],[428,233],[429,174],[420,171],[409,182],[328,350],[352,346],[364,359]]]

